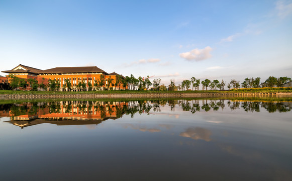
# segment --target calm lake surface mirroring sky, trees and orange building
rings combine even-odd
[[[292,103],[0,104],[1,180],[292,180]]]

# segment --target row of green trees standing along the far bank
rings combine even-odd
[[[60,89],[65,89],[66,91],[103,91],[103,90],[113,90],[113,89],[121,89],[121,86],[127,87],[128,90],[149,90],[150,86],[153,85],[151,89],[154,91],[173,91],[175,89],[175,80],[171,79],[169,85],[160,84],[161,79],[156,78],[152,82],[149,80],[149,76],[146,78],[142,78],[139,76],[135,78],[133,74],[130,76],[122,77],[121,75],[115,75],[115,79],[112,76],[106,79],[105,75],[101,75],[100,78],[94,80],[92,83],[91,81],[85,82],[84,79],[78,80],[78,82],[72,87],[71,79],[64,79],[63,87],[61,87],[61,80],[60,79],[49,79],[48,84],[44,84],[44,78],[39,83],[38,80],[29,78],[19,78],[13,74],[8,75],[9,83],[3,82],[0,83],[0,89],[16,89],[16,88],[23,88],[26,89],[30,87],[32,91],[37,91],[38,89],[45,91],[48,89],[49,91],[60,91]],[[230,88],[259,88],[259,87],[282,87],[284,83],[291,81],[290,77],[274,77],[269,76],[265,81],[260,82],[260,77],[256,78],[245,78],[244,81],[240,84],[240,81],[236,79],[231,79],[231,81],[227,84],[228,90]],[[190,79],[182,80],[180,84],[177,86],[177,90],[185,91],[189,90],[200,90],[200,85],[202,84],[202,90],[208,91],[210,90],[225,90],[226,81],[223,79],[221,81],[214,79],[210,80],[206,78],[205,80],[197,79],[195,77],[191,77]]]

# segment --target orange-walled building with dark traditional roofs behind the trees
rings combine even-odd
[[[33,78],[35,80],[38,80],[38,83],[43,83],[45,85],[49,84],[49,80],[59,80],[60,91],[62,91],[65,87],[65,80],[69,80],[69,82],[71,83],[70,89],[72,91],[78,91],[77,85],[79,82],[84,82],[88,90],[88,82],[90,82],[93,86],[95,82],[98,82],[98,80],[100,80],[101,75],[105,77],[105,84],[101,87],[101,89],[105,89],[105,87],[113,87],[114,89],[127,88],[123,87],[122,84],[119,86],[115,86],[116,77],[117,75],[119,75],[118,73],[107,73],[96,66],[56,67],[47,70],[41,70],[19,64],[11,70],[6,70],[2,72],[13,74],[15,76],[18,76],[19,78]],[[123,75],[121,75],[121,77],[125,79]],[[113,79],[111,84],[109,84],[108,82],[110,78]],[[4,82],[7,80],[7,77],[0,77],[0,82]]]

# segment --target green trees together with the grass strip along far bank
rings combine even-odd
[[[190,80],[183,80],[178,86],[175,84],[175,80],[171,79],[169,85],[160,84],[161,79],[156,78],[153,83],[149,80],[149,76],[146,78],[135,78],[133,74],[123,78],[120,75],[116,75],[116,79],[108,78],[101,75],[100,79],[94,80],[94,82],[85,82],[84,80],[79,81],[76,85],[72,84],[70,79],[65,79],[63,87],[61,87],[60,80],[50,79],[48,85],[45,85],[43,81],[38,83],[35,79],[22,79],[15,75],[8,75],[9,82],[0,83],[0,94],[20,94],[21,92],[11,92],[11,90],[30,90],[33,94],[38,94],[38,91],[43,91],[41,94],[135,94],[135,93],[157,93],[161,91],[169,91],[169,93],[217,93],[217,91],[231,91],[231,92],[290,92],[290,88],[283,87],[286,82],[291,81],[289,77],[273,77],[270,76],[264,82],[260,83],[260,77],[256,78],[245,78],[241,83],[240,81],[231,79],[227,84],[224,80],[200,80],[195,77],[191,77]],[[43,79],[44,80],[44,79]],[[202,89],[200,91],[200,85]],[[121,90],[121,85],[127,87],[126,90]],[[153,87],[150,87],[153,85]],[[289,85],[291,87],[291,85]],[[242,88],[240,88],[242,87]],[[191,88],[191,89],[190,89]],[[208,89],[209,88],[209,89]],[[230,89],[232,88],[232,89]],[[45,92],[44,92],[45,91]],[[186,91],[186,92],[185,92]],[[187,92],[191,91],[191,92]],[[75,93],[74,93],[75,92]],[[30,94],[30,93],[21,93]]]

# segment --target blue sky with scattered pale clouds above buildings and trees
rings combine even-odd
[[[0,70],[97,66],[166,85],[262,82],[292,77],[291,32],[287,0],[0,0]]]

